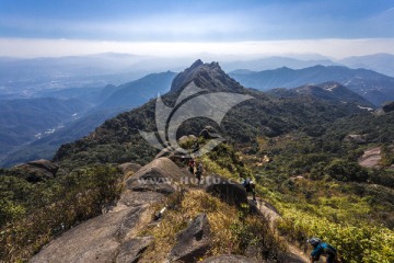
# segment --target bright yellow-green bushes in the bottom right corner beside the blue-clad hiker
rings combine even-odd
[[[287,209],[278,227],[301,243],[305,243],[308,237],[320,237],[338,250],[344,263],[391,263],[394,260],[394,232],[384,227],[368,222],[333,224],[297,209]]]

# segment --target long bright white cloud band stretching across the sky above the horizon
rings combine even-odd
[[[163,57],[198,56],[202,53],[237,56],[316,53],[343,58],[375,53],[394,54],[394,38],[262,42],[100,42],[0,38],[0,56],[47,57],[107,52]]]

